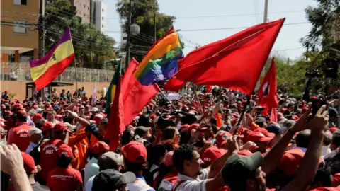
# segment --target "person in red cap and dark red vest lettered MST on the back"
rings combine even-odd
[[[47,174],[50,170],[57,168],[57,151],[64,144],[62,140],[65,140],[69,132],[67,126],[60,122],[53,128],[53,133],[52,139],[43,142],[40,146],[40,178],[42,179],[42,184],[46,182]]]

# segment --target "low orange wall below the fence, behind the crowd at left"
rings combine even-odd
[[[26,97],[26,83],[30,81],[0,81],[1,92],[8,90],[11,93],[16,93],[14,98],[18,98],[20,100],[25,99]],[[65,83],[73,83],[73,86],[64,86],[64,87],[56,87],[57,92],[62,92],[62,89],[65,91],[70,90],[72,93],[76,90],[77,86],[75,82],[72,81],[63,81]],[[103,90],[104,87],[108,88],[110,83],[108,82],[97,82],[96,90]],[[90,97],[92,95],[92,91],[94,90],[94,82],[78,82],[78,88],[84,87],[86,91],[86,96]],[[97,98],[101,95],[97,93]]]

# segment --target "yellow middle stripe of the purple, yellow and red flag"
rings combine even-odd
[[[44,74],[50,66],[61,62],[73,53],[72,40],[63,42],[55,49],[55,52],[53,52],[52,57],[50,57],[50,60],[46,64],[35,66],[30,69],[30,75],[32,76],[33,81],[39,79],[39,77],[42,76],[42,74]]]

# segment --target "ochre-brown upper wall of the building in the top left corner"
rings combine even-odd
[[[13,0],[1,1],[1,22],[14,22],[22,20],[28,23],[38,23],[39,0],[28,0],[27,6],[19,6]],[[38,49],[38,30],[29,30],[28,33],[16,34],[13,26],[1,25],[1,47],[23,47]]]

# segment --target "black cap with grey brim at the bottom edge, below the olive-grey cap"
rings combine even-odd
[[[127,183],[136,180],[136,175],[131,172],[119,173],[117,170],[106,169],[94,177],[92,191],[96,190],[120,190]]]

